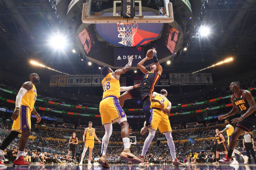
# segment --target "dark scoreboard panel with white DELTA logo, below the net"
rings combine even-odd
[[[145,58],[144,48],[114,48],[114,67],[124,67],[133,55],[132,67]]]

